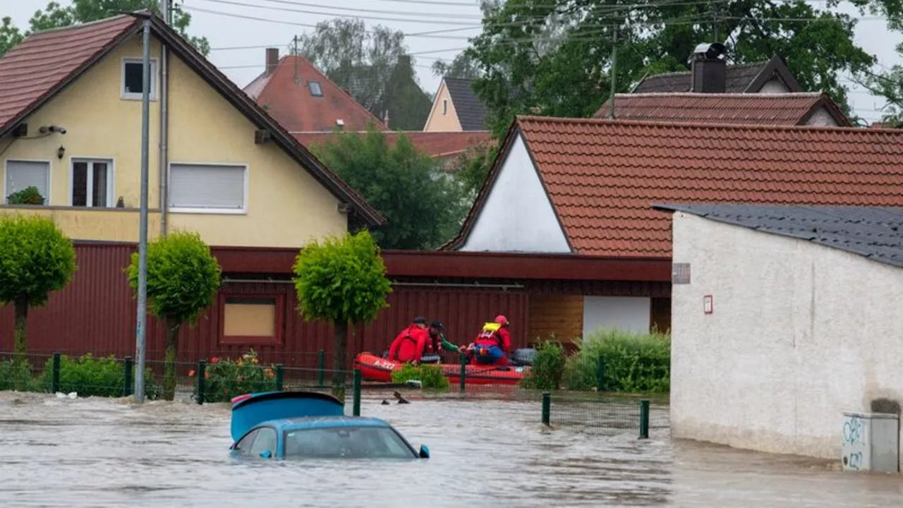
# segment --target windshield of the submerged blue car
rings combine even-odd
[[[387,427],[305,428],[285,432],[285,458],[413,458],[405,440]]]

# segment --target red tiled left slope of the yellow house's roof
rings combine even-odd
[[[119,15],[95,23],[34,33],[0,59],[0,133],[21,113],[49,99],[140,22]]]

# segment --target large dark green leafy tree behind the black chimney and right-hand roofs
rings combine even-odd
[[[865,8],[867,0],[857,1]],[[504,133],[514,115],[526,112],[591,116],[609,96],[615,38],[621,92],[647,72],[686,71],[695,44],[718,41],[732,63],[782,55],[804,89],[824,90],[849,109],[839,75],[874,62],[853,42],[851,16],[796,0],[728,0],[716,7],[651,0],[484,2],[483,33],[466,54],[483,72],[474,89],[489,107],[492,130]]]

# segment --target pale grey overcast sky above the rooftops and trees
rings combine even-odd
[[[0,17],[12,16],[27,28],[35,10],[48,0],[0,0]],[[70,0],[57,0],[67,4]],[[429,66],[436,59],[451,61],[467,46],[467,37],[479,33],[478,0],[175,0],[191,13],[191,34],[206,36],[212,49],[209,58],[239,86],[245,86],[264,68],[264,49],[279,46],[282,52],[296,33],[335,17],[357,16],[368,26],[383,24],[408,34],[406,42],[414,54],[421,86],[435,91],[439,79]],[[824,6],[825,0],[812,0]],[[329,5],[329,6],[327,6]],[[340,5],[336,6],[336,5]],[[842,8],[858,16],[852,7]],[[230,14],[230,15],[226,15]],[[249,19],[257,18],[257,19]],[[402,21],[404,18],[404,21]],[[434,33],[414,37],[412,33]],[[882,66],[901,63],[895,46],[903,35],[890,33],[884,21],[873,16],[861,19],[856,42],[878,57]],[[234,49],[240,48],[240,49]],[[862,118],[880,118],[884,102],[852,83],[850,101]]]

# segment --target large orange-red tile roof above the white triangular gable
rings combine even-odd
[[[444,249],[466,240],[518,133],[582,255],[670,256],[656,203],[903,206],[903,130],[519,117]]]

